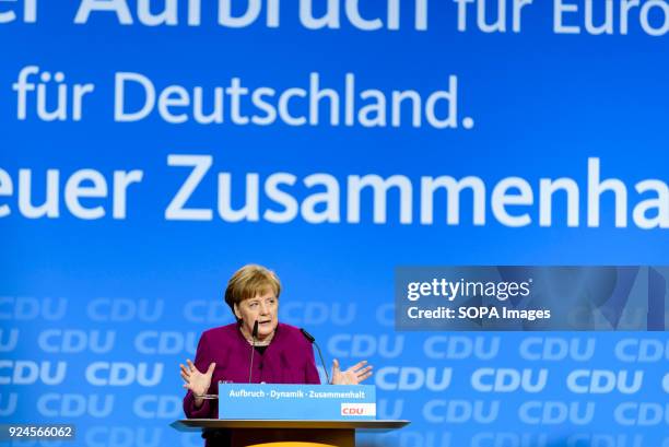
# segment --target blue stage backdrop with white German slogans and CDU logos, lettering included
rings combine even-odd
[[[669,446],[664,331],[394,314],[397,267],[669,263],[668,34],[667,0],[0,2],[0,422],[200,446],[178,364],[254,262],[412,421],[365,445]]]

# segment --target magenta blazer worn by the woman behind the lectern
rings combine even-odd
[[[200,337],[195,365],[206,372],[212,362],[216,367],[211,378],[209,395],[219,393],[219,380],[248,384],[248,369],[253,346],[242,336],[237,324],[209,329]],[[320,384],[312,343],[294,326],[279,324],[272,342],[265,353],[254,354],[251,374],[254,384]],[[187,417],[219,417],[216,400],[206,400],[195,408],[190,390],[184,398]]]

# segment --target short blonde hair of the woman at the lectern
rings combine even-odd
[[[274,296],[279,298],[281,282],[277,273],[267,267],[249,263],[237,270],[227,281],[225,303],[227,303],[233,315],[235,315],[235,304],[238,305],[244,299],[262,295],[269,291],[273,292]]]

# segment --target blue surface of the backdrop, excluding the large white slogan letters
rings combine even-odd
[[[315,3],[322,13],[325,3]],[[364,16],[386,14],[385,2],[361,3]],[[490,22],[495,10],[488,3]],[[80,2],[44,1],[38,2],[36,21],[25,23],[24,0],[3,4],[0,12],[17,11],[19,16],[0,24],[0,168],[14,187],[12,195],[0,196],[0,204],[10,209],[0,219],[1,421],[75,423],[78,445],[200,445],[196,436],[167,426],[181,416],[178,363],[192,358],[202,330],[231,322],[222,304],[225,283],[238,267],[256,262],[282,279],[282,320],[314,333],[328,362],[334,356],[347,365],[368,358],[376,368],[379,416],[412,420],[410,427],[387,437],[366,437],[369,443],[669,445],[669,384],[664,384],[669,339],[664,332],[542,333],[537,351],[544,343],[572,348],[555,358],[549,354],[531,360],[524,356],[523,346],[538,337],[533,333],[394,330],[396,266],[668,261],[668,217],[664,228],[650,230],[639,228],[632,219],[634,204],[653,196],[637,195],[634,185],[649,178],[665,185],[667,180],[667,32],[648,35],[636,11],[631,12],[627,34],[621,34],[614,1],[613,34],[556,33],[553,3],[536,3],[524,10],[519,33],[483,33],[471,15],[467,31],[459,32],[457,4],[450,1],[429,3],[425,31],[412,26],[414,2],[402,1],[400,30],[374,32],[357,30],[345,19],[337,30],[307,30],[298,21],[296,2],[281,3],[281,24],[275,28],[262,19],[243,28],[220,26],[212,4],[202,5],[199,26],[186,24],[185,2],[179,2],[176,26],[142,25],[134,1],[128,2],[132,25],[119,24],[111,12],[93,12],[85,23],[74,23]],[[648,20],[664,30],[669,5],[654,3]],[[570,4],[579,10],[568,14],[567,22],[583,23],[584,3]],[[163,2],[152,2],[152,8],[157,12]],[[473,13],[473,5],[468,11]],[[598,3],[595,11],[598,22],[603,9]],[[62,71],[70,85],[94,83],[82,119],[39,119],[35,92],[28,93],[27,116],[20,119],[12,84],[26,66]],[[360,90],[378,89],[388,95],[392,90],[415,90],[426,98],[433,91],[447,90],[449,75],[456,75],[460,122],[455,129],[436,129],[423,116],[422,126],[412,127],[404,111],[399,127],[331,126],[327,107],[320,109],[317,126],[238,126],[227,108],[220,125],[168,123],[155,110],[137,122],[116,122],[114,77],[121,71],[142,73],[156,89],[179,84],[192,92],[202,86],[209,92],[207,101],[213,87],[227,86],[235,77],[250,89],[283,91],[308,89],[309,73],[317,72],[322,87],[343,97],[344,77],[353,73]],[[30,80],[36,83],[37,77]],[[48,101],[54,102],[55,82],[48,85]],[[130,91],[127,98],[136,107],[142,101]],[[294,104],[295,114],[306,109],[305,102]],[[465,117],[473,119],[473,128],[461,126]],[[189,173],[187,167],[168,166],[168,154],[212,157],[212,168],[188,202],[190,208],[213,209],[211,221],[165,217]],[[614,226],[612,196],[606,195],[601,223],[587,226],[588,157],[600,160],[602,178],[615,177],[626,185],[625,227]],[[83,168],[98,170],[107,181],[114,170],[143,172],[142,181],[128,189],[125,219],[113,217],[108,197],[82,200],[86,207],[104,205],[102,219],[82,220],[68,211],[64,181]],[[46,170],[60,172],[58,217],[28,219],[21,213],[19,169],[32,172],[36,204],[44,200]],[[218,172],[232,175],[235,207],[244,203],[248,173],[260,175],[261,188],[271,174],[291,173],[298,184],[282,189],[298,198],[309,192],[300,184],[302,178],[330,174],[342,186],[341,220],[225,222],[215,212]],[[363,196],[360,223],[347,222],[347,178],[368,174],[403,175],[412,181],[411,224],[399,222],[397,191],[388,196],[385,223],[374,223],[371,195]],[[458,225],[446,224],[444,198],[434,223],[420,223],[420,178],[442,175],[471,175],[485,183],[484,225],[472,224],[470,192],[462,195]],[[539,225],[536,204],[514,211],[528,212],[529,225],[500,223],[491,211],[490,190],[512,176],[526,179],[536,196],[540,178],[575,179],[580,187],[579,225],[566,225],[561,201],[548,227]],[[666,196],[660,199],[669,207]],[[281,210],[263,196],[261,211],[268,208]],[[625,342],[631,357],[617,355],[617,345],[630,338],[637,340]],[[638,343],[659,351],[636,355]],[[104,364],[96,366],[99,362]],[[119,385],[96,385],[91,368],[102,367],[95,377],[106,379],[113,365],[139,377],[127,385],[122,379]],[[35,368],[44,368],[44,375],[31,377]],[[528,370],[532,384],[541,381],[542,370],[548,377],[540,392],[527,392],[523,386],[513,392],[489,392],[471,383],[479,368],[510,368],[516,376]],[[620,386],[607,393],[578,393],[570,389],[566,377],[582,368],[626,372],[626,384],[641,372],[643,383],[631,393]],[[532,410],[538,420],[520,415],[527,401],[542,402]],[[623,412],[626,419],[615,415],[624,402],[633,402]],[[556,410],[551,413],[547,407]],[[565,408],[572,409],[566,416],[561,412]],[[541,411],[548,416],[542,419]]]

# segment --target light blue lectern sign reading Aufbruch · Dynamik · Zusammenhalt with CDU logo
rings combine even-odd
[[[219,383],[221,420],[373,421],[373,385]]]

